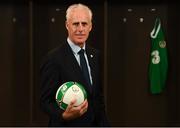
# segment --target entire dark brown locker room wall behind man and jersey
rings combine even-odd
[[[47,125],[48,117],[39,108],[39,67],[43,56],[66,39],[65,10],[73,2],[0,4],[0,126]],[[88,42],[104,55],[105,101],[112,126],[179,126],[180,6],[159,1],[78,2],[88,4],[94,14]],[[170,65],[166,90],[154,96],[147,71],[156,16],[162,19]]]

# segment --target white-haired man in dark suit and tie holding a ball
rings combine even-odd
[[[100,76],[99,52],[86,44],[92,29],[92,12],[83,4],[73,4],[66,11],[68,38],[50,52],[41,66],[41,107],[49,115],[49,126],[108,126]],[[83,49],[88,69],[86,78],[80,62]],[[87,80],[89,79],[89,80]],[[55,100],[58,87],[68,81],[81,83],[87,91],[87,100],[67,109],[59,108]]]

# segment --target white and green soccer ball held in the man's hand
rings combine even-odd
[[[74,106],[79,106],[86,98],[86,90],[77,82],[66,82],[62,84],[56,92],[56,102],[63,110],[67,108],[73,99],[76,99]]]

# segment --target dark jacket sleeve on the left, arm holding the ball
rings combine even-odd
[[[46,59],[40,67],[41,95],[40,106],[42,110],[53,120],[63,122],[63,110],[59,108],[55,100],[56,90],[59,87],[58,66],[52,59]]]

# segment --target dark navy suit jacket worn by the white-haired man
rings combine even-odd
[[[49,115],[49,126],[108,126],[99,52],[86,45],[93,85],[88,86],[67,42],[49,52],[41,65],[41,108]],[[55,100],[58,87],[68,81],[81,83],[87,91],[88,110],[80,118],[65,121]]]

